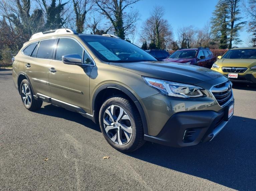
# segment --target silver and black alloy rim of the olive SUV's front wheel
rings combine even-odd
[[[133,136],[133,125],[123,108],[117,105],[109,106],[104,112],[103,124],[112,142],[119,145],[130,142]]]

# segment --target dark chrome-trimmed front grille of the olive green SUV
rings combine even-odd
[[[211,92],[220,106],[224,106],[232,97],[231,82],[226,81],[211,88]]]

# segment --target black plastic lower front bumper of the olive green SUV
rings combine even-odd
[[[157,136],[144,135],[146,141],[174,147],[196,145],[211,141],[228,123],[231,101],[219,112],[185,111],[174,114]]]

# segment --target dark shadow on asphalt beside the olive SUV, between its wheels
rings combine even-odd
[[[87,119],[80,115],[79,113],[68,111],[64,108],[54,106],[52,104],[45,105],[41,109],[34,111],[35,113],[40,113],[43,115],[63,118],[69,121],[74,121],[76,123],[79,123],[83,126],[86,126],[90,129],[93,129],[95,131],[101,132],[98,125],[93,123],[90,119]]]

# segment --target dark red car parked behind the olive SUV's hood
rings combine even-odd
[[[172,53],[165,61],[198,65],[211,68],[217,58],[209,48],[180,49]]]

